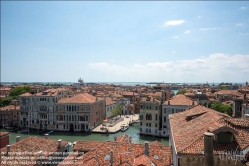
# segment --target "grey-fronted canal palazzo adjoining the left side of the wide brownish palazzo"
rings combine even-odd
[[[69,96],[66,88],[48,89],[40,93],[19,96],[19,126],[40,130],[56,129],[56,103]]]

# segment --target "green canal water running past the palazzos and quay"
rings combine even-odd
[[[3,131],[3,130],[1,130]],[[4,130],[6,131],[6,130]],[[39,134],[38,132],[29,132],[29,133],[17,133],[17,132],[10,132],[10,144],[15,143],[16,141],[16,136],[20,136],[20,139],[27,138],[29,136],[37,136],[37,137],[45,137],[45,133]],[[157,137],[152,137],[152,136],[142,136],[139,134],[139,123],[135,123],[132,126],[129,127],[128,130],[125,132],[117,132],[115,134],[101,134],[101,133],[92,133],[89,135],[86,135],[85,133],[70,133],[70,132],[53,132],[50,134],[48,137],[49,139],[62,139],[64,141],[68,141],[73,143],[74,141],[77,140],[88,140],[88,141],[114,141],[115,136],[120,136],[120,135],[129,135],[132,137],[132,143],[144,143],[145,141],[151,142],[154,140],[157,140],[164,145],[169,145],[169,139],[168,138],[157,138]]]

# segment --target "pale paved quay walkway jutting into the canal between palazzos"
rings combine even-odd
[[[129,116],[129,117],[128,117]],[[95,129],[92,130],[92,133],[104,133],[103,130],[101,130],[101,128],[106,128],[108,130],[108,133],[116,133],[118,131],[120,131],[121,129],[121,125],[122,124],[126,124],[129,125],[129,123],[131,121],[138,121],[139,119],[139,115],[138,114],[134,114],[134,115],[121,115],[121,117],[124,119],[123,121],[118,122],[117,124],[115,124],[114,126],[103,126],[102,124],[97,126]],[[129,130],[129,129],[128,129]]]

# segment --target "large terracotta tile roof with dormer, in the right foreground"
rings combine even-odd
[[[204,148],[204,133],[218,133],[229,130],[234,133],[236,142],[223,146],[216,143],[214,153],[219,150],[235,151],[238,146],[241,150],[249,146],[249,132],[243,128],[247,121],[232,118],[204,106],[195,106],[184,112],[169,115],[171,131],[173,133],[176,151],[178,153],[200,154]],[[235,126],[234,124],[239,124]],[[235,149],[234,149],[235,148]]]

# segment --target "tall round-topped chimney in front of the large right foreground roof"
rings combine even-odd
[[[214,149],[214,134],[210,132],[204,133],[204,157],[205,166],[213,166],[213,149]]]

